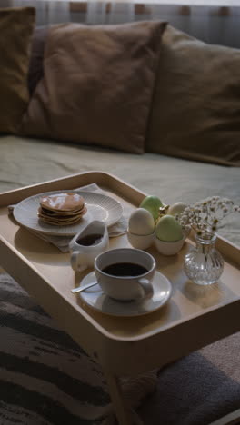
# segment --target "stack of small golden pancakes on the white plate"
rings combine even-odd
[[[54,226],[75,224],[85,213],[85,200],[78,193],[55,193],[44,196],[38,209],[38,217]]]

